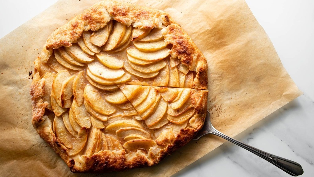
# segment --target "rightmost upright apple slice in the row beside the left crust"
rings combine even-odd
[[[84,93],[85,85],[86,85],[86,79],[84,77],[84,71],[80,71],[73,79],[73,84],[72,84],[72,92],[74,96],[73,101],[76,101],[78,106],[81,106],[83,104],[83,101],[84,101],[83,93]]]

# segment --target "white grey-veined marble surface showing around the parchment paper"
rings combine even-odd
[[[2,1],[0,38],[56,1]],[[312,177],[314,176],[314,1],[246,0],[246,2],[272,40],[284,67],[304,95],[245,130],[236,136],[236,139],[296,161],[304,169],[302,176]],[[290,175],[256,155],[227,142],[174,176]]]

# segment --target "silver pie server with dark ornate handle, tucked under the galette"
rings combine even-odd
[[[209,118],[209,112],[207,111],[206,118],[205,118],[205,123],[203,128],[198,132],[198,134],[194,137],[194,140],[198,140],[200,137],[206,134],[214,134],[217,135],[221,138],[224,138],[240,147],[243,147],[244,149],[256,154],[257,156],[267,160],[268,162],[272,163],[279,169],[284,170],[286,173],[292,175],[292,176],[298,176],[303,174],[303,169],[299,163],[296,163],[294,161],[275,156],[273,154],[261,151],[255,147],[252,147],[250,145],[247,145],[245,143],[242,143],[236,139],[233,139],[229,136],[226,136],[225,134],[219,132],[214,128],[214,126],[210,122]]]

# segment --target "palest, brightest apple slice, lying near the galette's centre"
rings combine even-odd
[[[98,62],[89,63],[87,66],[93,75],[106,80],[120,79],[125,73],[123,69],[111,69]]]

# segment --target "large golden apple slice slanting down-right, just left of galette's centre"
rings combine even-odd
[[[84,89],[84,99],[97,113],[110,115],[116,112],[115,108],[106,102],[100,93],[90,85],[87,85]]]

